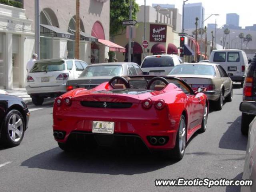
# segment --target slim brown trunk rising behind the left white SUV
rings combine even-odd
[[[76,0],[76,37],[75,37],[75,58],[79,59],[80,50],[80,0]]]

